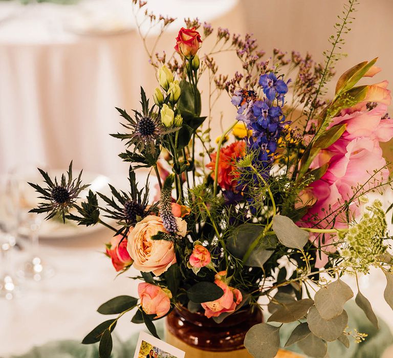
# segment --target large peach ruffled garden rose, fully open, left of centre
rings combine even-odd
[[[187,223],[176,218],[178,223],[178,235],[185,236]],[[169,266],[176,262],[173,242],[166,240],[153,240],[151,236],[160,231],[166,232],[162,219],[156,215],[148,215],[136,223],[128,235],[127,251],[134,260],[133,266],[142,272],[152,272],[160,276],[168,270]]]

